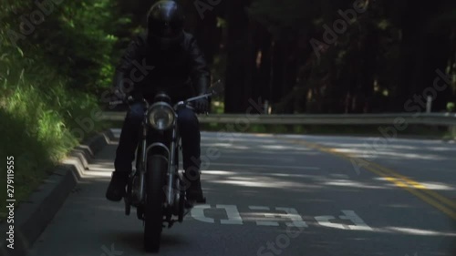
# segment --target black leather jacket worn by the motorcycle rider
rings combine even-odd
[[[196,39],[183,32],[181,43],[159,50],[147,33],[130,43],[116,67],[114,87],[133,97],[167,93],[173,102],[206,93],[211,73]]]

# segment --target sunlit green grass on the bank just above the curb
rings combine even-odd
[[[43,92],[22,77],[16,86],[2,87],[0,97],[0,184],[6,184],[6,157],[14,157],[16,208],[26,202],[67,153],[84,139],[107,128],[93,121],[91,130],[81,133],[78,118],[89,118],[98,109],[94,97],[71,91],[55,81]],[[49,87],[50,88],[50,87]],[[7,96],[7,97],[6,97]],[[0,221],[5,220],[6,186],[0,193]]]

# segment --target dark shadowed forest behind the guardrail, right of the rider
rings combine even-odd
[[[427,96],[433,111],[445,111],[456,102],[454,1],[214,2],[222,3],[194,31],[222,30],[215,44],[224,47],[207,54],[226,56],[227,112],[260,97],[275,113],[418,112]],[[211,15],[227,26],[213,26]]]

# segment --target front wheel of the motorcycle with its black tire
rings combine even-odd
[[[144,247],[150,252],[160,250],[167,165],[168,160],[161,155],[153,155],[147,161]]]

